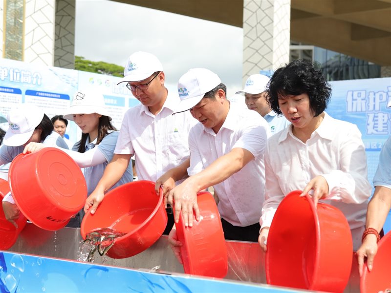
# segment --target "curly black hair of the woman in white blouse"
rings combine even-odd
[[[331,86],[317,67],[320,69],[319,63],[300,59],[277,69],[267,89],[267,102],[271,109],[281,115],[279,96],[298,96],[306,93],[314,117],[319,116],[330,101]]]

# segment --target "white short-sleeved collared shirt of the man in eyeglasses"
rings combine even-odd
[[[124,116],[115,154],[134,154],[139,180],[155,182],[189,157],[188,133],[197,123],[189,111],[173,114],[179,97],[167,96],[155,116],[142,104]]]

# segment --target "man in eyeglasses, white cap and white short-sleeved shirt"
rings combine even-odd
[[[138,179],[153,182],[189,158],[188,133],[194,119],[189,113],[172,115],[180,100],[176,93],[168,92],[164,80],[156,56],[141,51],[130,55],[118,84],[126,84],[141,104],[125,113],[113,159],[88,196],[86,212],[95,212],[104,192],[122,177],[133,155]],[[168,216],[167,234],[174,224],[172,214]]]

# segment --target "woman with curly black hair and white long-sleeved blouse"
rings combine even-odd
[[[259,243],[266,239],[274,213],[286,194],[303,190],[340,209],[348,219],[353,249],[360,246],[371,186],[357,126],[326,112],[331,87],[314,63],[293,61],[273,74],[267,99],[273,111],[291,122],[267,142],[265,202]]]

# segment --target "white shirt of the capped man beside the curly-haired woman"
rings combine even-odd
[[[237,173],[214,186],[220,200],[218,211],[234,226],[253,225],[261,216],[267,129],[267,122],[256,111],[231,104],[217,134],[202,124],[195,125],[189,133],[189,175],[197,174],[235,147],[247,149],[255,157]]]

